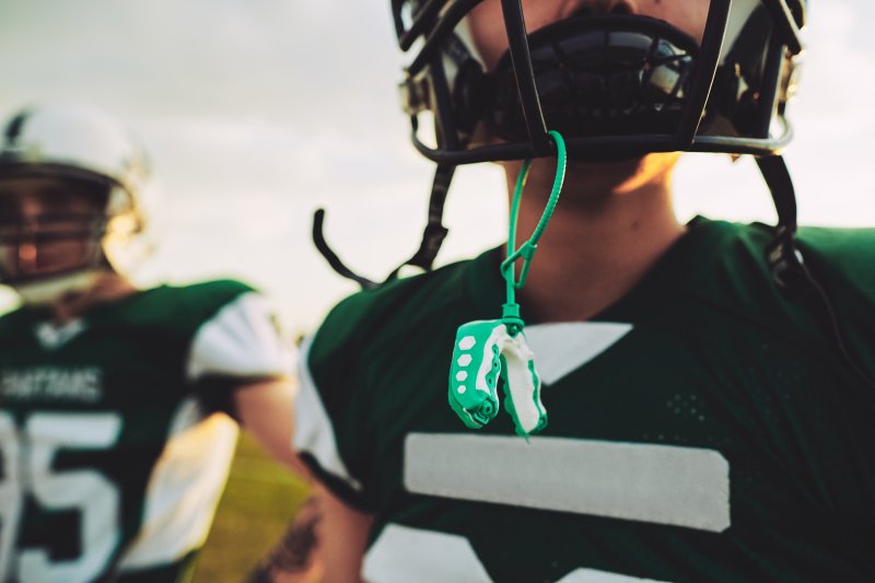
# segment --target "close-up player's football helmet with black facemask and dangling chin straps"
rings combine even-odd
[[[431,268],[447,232],[441,218],[457,165],[551,155],[547,131],[558,130],[578,160],[673,151],[757,156],[780,219],[768,257],[775,280],[794,287],[796,206],[780,153],[792,138],[785,113],[803,53],[805,0],[710,0],[701,39],[667,22],[615,13],[572,15],[529,35],[521,0],[501,0],[510,48],[492,70],[467,34],[466,18],[481,1],[392,0],[398,43],[411,56],[401,106],[413,145],[438,164],[423,241],[406,265]],[[317,247],[339,272],[372,285],[330,252],[322,220],[319,211]]]

